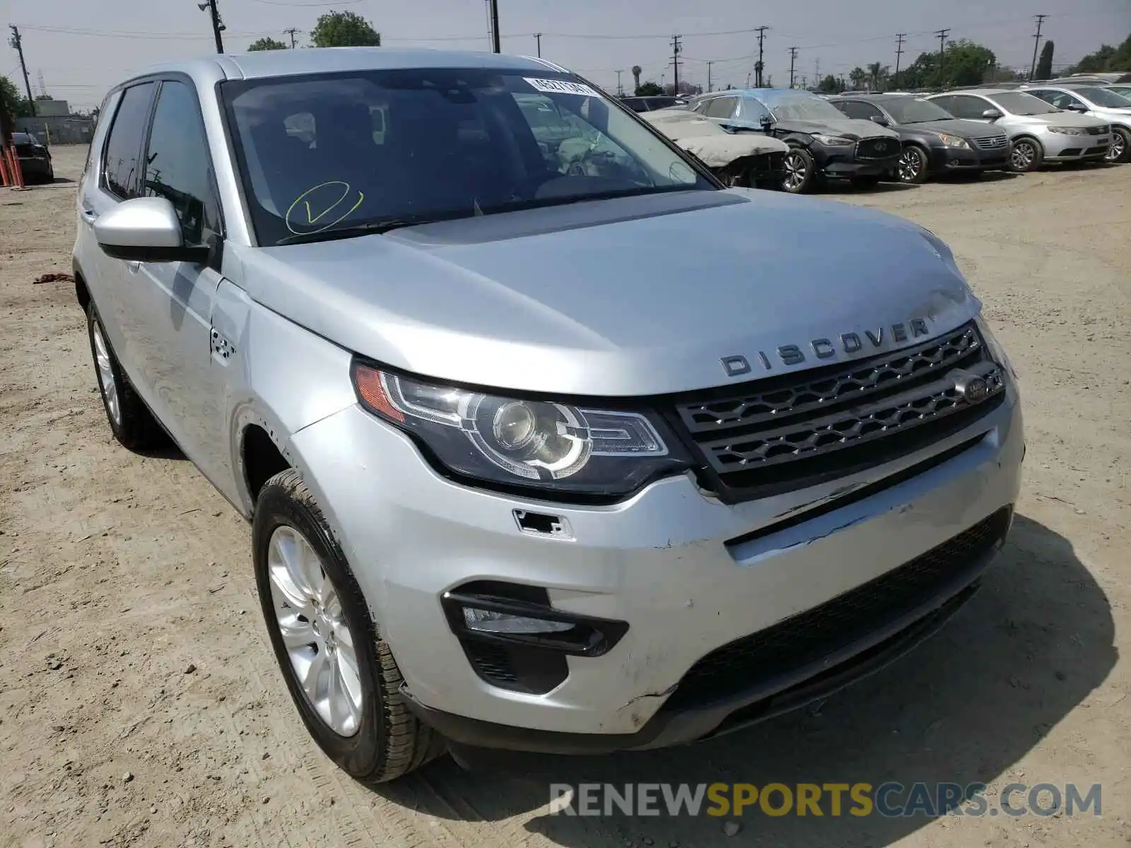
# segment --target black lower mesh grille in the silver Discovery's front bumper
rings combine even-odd
[[[940,598],[1005,536],[1010,509],[820,606],[716,648],[696,663],[664,703],[688,709],[758,687],[882,630]]]

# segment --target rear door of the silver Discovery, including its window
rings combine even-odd
[[[107,257],[96,246],[94,223],[123,200],[138,197],[141,146],[155,89],[153,81],[146,81],[124,88],[118,96],[105,144],[92,163],[93,173],[84,180],[79,198],[79,237],[90,245],[81,253],[90,297],[121,367],[147,400],[135,344],[139,317],[130,297],[136,267]]]

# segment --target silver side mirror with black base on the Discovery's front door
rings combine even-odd
[[[127,262],[202,262],[207,248],[188,248],[173,205],[163,197],[123,200],[94,222],[107,257]]]

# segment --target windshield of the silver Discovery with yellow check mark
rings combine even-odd
[[[225,83],[222,96],[260,244],[715,189],[567,73],[356,71]]]

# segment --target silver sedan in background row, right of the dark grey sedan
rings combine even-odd
[[[933,94],[926,99],[955,118],[1005,130],[1013,171],[1036,171],[1046,162],[1102,162],[1112,142],[1106,121],[1064,112],[1025,92],[977,88]]]

